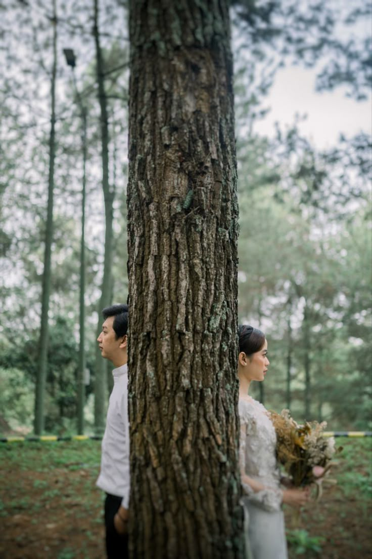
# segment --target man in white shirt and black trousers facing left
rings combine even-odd
[[[106,492],[105,527],[108,559],[128,557],[129,419],[127,330],[128,306],[114,305],[102,311],[104,323],[97,338],[102,357],[114,364],[102,440],[101,469],[96,485]]]

